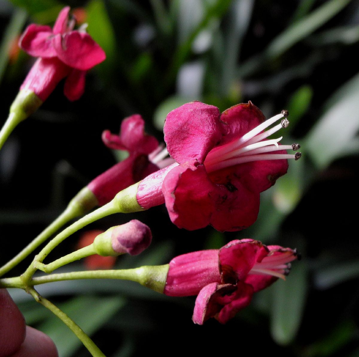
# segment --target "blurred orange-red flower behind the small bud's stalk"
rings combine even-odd
[[[84,232],[80,236],[77,249],[81,249],[92,244],[94,239],[103,232],[104,231],[98,229]],[[101,256],[98,254],[93,254],[84,258],[84,264],[88,270],[111,269],[115,265],[115,262],[116,257],[114,256]]]

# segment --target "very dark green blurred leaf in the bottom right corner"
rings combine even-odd
[[[344,321],[335,326],[334,330],[322,340],[319,340],[309,346],[304,352],[306,357],[326,357],[332,356],[340,351],[356,333],[356,326],[352,321]],[[353,355],[353,357],[355,354]]]

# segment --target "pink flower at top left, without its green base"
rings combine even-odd
[[[84,29],[73,30],[75,19],[69,18],[69,11],[69,6],[61,10],[52,29],[29,25],[19,41],[25,52],[39,57],[20,89],[34,92],[42,101],[65,77],[65,96],[71,101],[79,99],[84,92],[86,71],[106,58]]]

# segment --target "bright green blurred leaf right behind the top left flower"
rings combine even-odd
[[[108,76],[116,58],[116,38],[102,0],[92,0],[87,5],[87,22],[89,34],[106,53],[106,60],[96,69]]]

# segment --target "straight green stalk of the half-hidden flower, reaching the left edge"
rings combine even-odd
[[[4,266],[0,268],[0,277],[7,273],[9,270],[13,269],[14,266],[20,263],[25,259],[29,254],[31,254],[39,245],[47,240],[48,237],[52,236],[58,229],[60,229],[64,224],[69,222],[71,219],[77,217],[77,212],[73,207],[67,207],[64,212],[59,215],[53,221],[50,226],[48,226],[44,231],[42,231],[31,243],[29,243],[22,251],[14,256],[13,259],[8,261]]]

